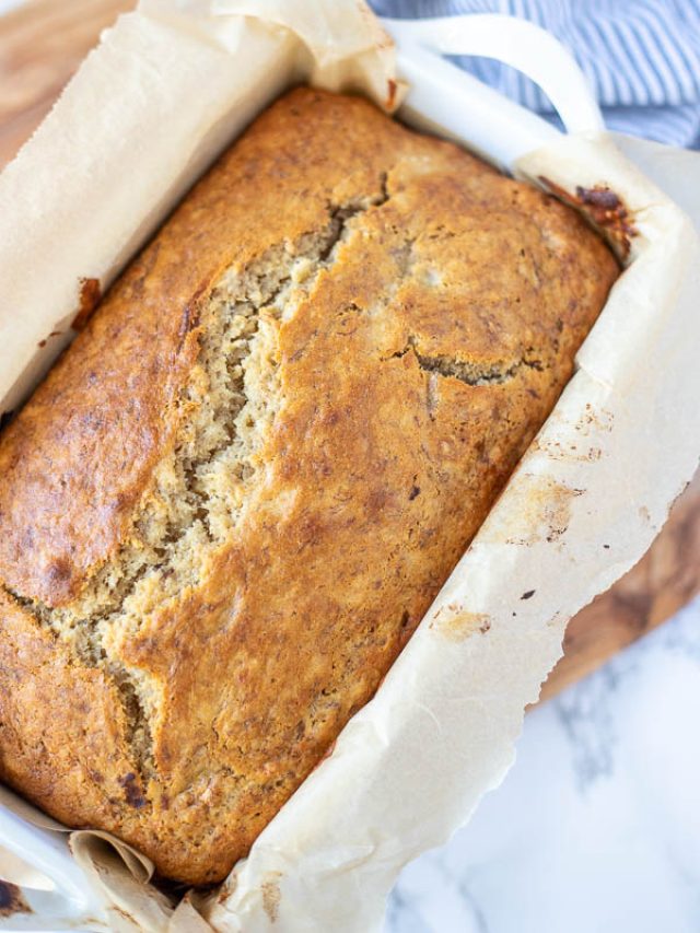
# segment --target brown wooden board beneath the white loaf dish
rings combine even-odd
[[[95,45],[136,0],[34,0],[0,19],[0,166],[18,151]],[[700,478],[642,561],[569,623],[551,697],[700,592]]]

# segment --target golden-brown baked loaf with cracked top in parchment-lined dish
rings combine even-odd
[[[617,271],[455,145],[282,97],[0,436],[3,779],[221,879],[376,690]]]

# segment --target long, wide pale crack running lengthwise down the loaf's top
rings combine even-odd
[[[329,205],[325,230],[279,244],[242,272],[226,270],[217,282],[199,315],[199,358],[182,394],[175,447],[155,471],[131,541],[97,572],[80,599],[56,609],[3,587],[67,642],[78,661],[109,675],[143,781],[156,773],[151,722],[158,715],[158,687],[109,651],[113,630],[138,629],[140,617],[131,604],[138,604],[139,588],[152,586],[155,578],[161,598],[182,592],[192,582],[192,548],[203,562],[241,520],[255,455],[281,404],[276,381],[280,322],[293,316],[320,273],[332,267],[353,219],[388,200],[384,175],[380,187],[378,198]],[[132,784],[128,790],[139,806],[145,805]]]

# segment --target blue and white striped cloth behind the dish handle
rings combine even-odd
[[[404,19],[508,13],[553,33],[578,58],[606,124],[620,132],[700,149],[700,0],[370,0]],[[539,88],[483,58],[457,59],[530,109],[551,113]]]

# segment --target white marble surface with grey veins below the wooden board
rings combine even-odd
[[[700,599],[532,712],[468,827],[408,865],[385,933],[700,931]]]

